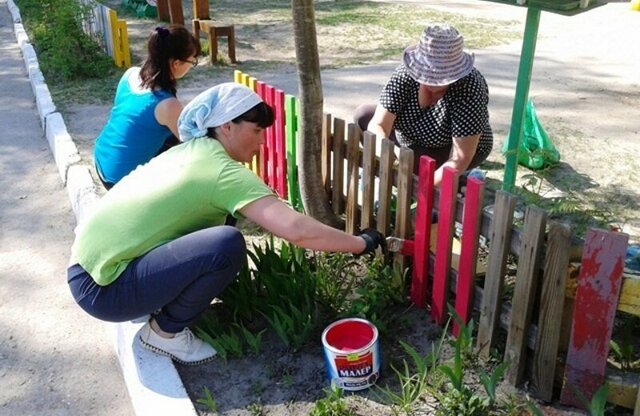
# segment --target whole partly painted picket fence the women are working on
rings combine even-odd
[[[267,134],[252,167],[281,196],[282,183],[291,194],[296,182],[280,175],[295,174],[295,151],[289,148],[295,134],[275,132],[296,130],[290,114],[296,107],[284,106],[282,98],[272,100],[283,93],[246,74],[237,72],[236,81],[253,86],[276,108],[281,127]],[[621,376],[606,368],[616,310],[640,315],[640,284],[623,278],[627,235],[589,230],[579,241],[568,226],[547,221],[547,214],[533,206],[526,208],[523,225],[515,226],[515,196],[497,191],[493,213],[487,213],[482,181],[468,178],[461,194],[459,175],[445,169],[440,188],[434,189],[435,161],[423,156],[416,176],[418,161],[411,150],[397,149],[389,140],[381,144],[376,154],[373,134],[326,114],[322,179],[334,212],[345,218],[345,231],[376,227],[393,236],[389,248],[396,252],[395,264],[402,270],[412,266],[416,306],[429,310],[440,325],[447,320],[448,304],[464,322],[477,319],[481,357],[498,347],[502,331],[506,343],[500,347],[510,363],[507,381],[527,380],[542,400],[553,399],[555,385],[563,403],[581,406],[576,390],[590,398],[607,381],[609,401],[636,406],[639,416],[637,374]],[[438,215],[435,224],[432,211]],[[478,259],[480,241],[488,247],[486,262]],[[505,275],[513,258],[517,271],[509,295]],[[454,335],[458,330],[454,325]]]

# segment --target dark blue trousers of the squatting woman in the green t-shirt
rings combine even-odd
[[[176,333],[207,309],[245,261],[242,233],[222,225],[154,248],[107,286],[96,284],[78,264],[69,267],[67,276],[74,299],[89,315],[124,322],[159,310],[155,320],[160,328]]]

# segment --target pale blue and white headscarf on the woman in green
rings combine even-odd
[[[209,127],[221,126],[261,102],[258,94],[235,82],[209,88],[182,109],[178,117],[180,139],[186,142],[205,136]]]

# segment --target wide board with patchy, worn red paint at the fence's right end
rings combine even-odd
[[[560,397],[562,403],[582,406],[574,389],[590,401],[605,380],[628,239],[622,233],[593,229],[587,232]]]

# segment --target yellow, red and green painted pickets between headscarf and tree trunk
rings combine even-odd
[[[234,81],[255,91],[275,111],[274,124],[265,131],[265,142],[250,164],[250,168],[260,176],[291,206],[301,210],[298,188],[298,166],[296,163],[296,141],[298,136],[299,101],[254,77],[234,72]]]

